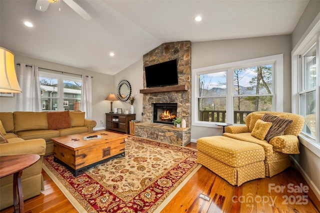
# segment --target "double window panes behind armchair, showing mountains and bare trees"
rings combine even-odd
[[[272,111],[272,65],[232,69],[234,123],[244,123],[245,116],[252,111]],[[199,120],[225,122],[226,73],[199,75]]]

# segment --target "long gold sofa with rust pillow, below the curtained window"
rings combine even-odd
[[[61,111],[66,112],[66,111]],[[45,155],[53,153],[53,142],[50,138],[93,131],[95,120],[85,119],[81,111],[68,111],[71,127],[49,129],[46,111],[0,112],[0,120],[6,131],[5,138],[20,137],[25,140],[43,138],[46,143]],[[52,112],[51,112],[52,113]]]

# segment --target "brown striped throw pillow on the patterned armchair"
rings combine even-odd
[[[293,122],[293,120],[285,119],[280,116],[265,113],[261,120],[265,122],[271,122],[272,125],[265,135],[265,139],[269,141],[275,136],[282,135],[284,130]]]

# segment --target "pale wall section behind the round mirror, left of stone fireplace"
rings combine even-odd
[[[142,55],[141,59],[137,62],[133,63],[132,65],[128,66],[127,68],[123,69],[122,71],[118,72],[113,76],[113,93],[116,94],[116,87],[120,80],[127,80],[131,85],[131,96],[135,96],[135,101],[133,103],[134,106],[134,113],[135,119],[142,121],[142,97],[143,95],[140,94],[140,89],[143,89],[143,61]],[[127,109],[130,111],[130,105],[128,103],[122,102],[120,100],[113,102],[113,107]]]

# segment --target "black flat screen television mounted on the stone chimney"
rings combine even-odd
[[[177,59],[145,66],[146,87],[178,84]]]

